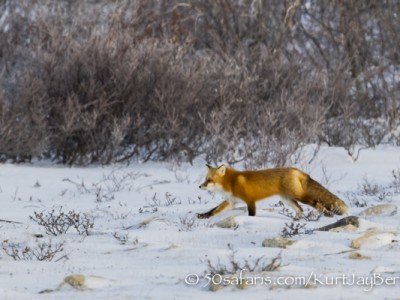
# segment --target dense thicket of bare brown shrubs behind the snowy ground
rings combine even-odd
[[[398,1],[0,0],[0,159],[399,144],[399,32]]]

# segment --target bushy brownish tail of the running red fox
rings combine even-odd
[[[340,200],[339,197],[332,194],[311,177],[308,177],[305,183],[305,188],[309,198],[318,202],[319,205],[333,214],[348,215],[347,205]]]

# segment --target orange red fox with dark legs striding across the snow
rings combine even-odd
[[[255,216],[256,202],[274,195],[281,196],[296,211],[295,219],[303,216],[303,209],[297,201],[311,205],[326,216],[348,214],[348,208],[342,200],[296,168],[237,171],[224,165],[207,167],[208,174],[200,188],[221,192],[228,200],[206,213],[197,214],[200,219],[232,209],[236,199],[247,204],[249,216]]]

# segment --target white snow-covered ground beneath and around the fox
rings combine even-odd
[[[296,166],[341,197],[352,215],[380,204],[400,205],[400,148],[363,150],[354,162],[343,149],[326,147],[308,164],[310,159],[306,155]],[[300,220],[294,225],[301,225],[302,234],[289,237],[297,242],[285,249],[263,247],[265,239],[279,237],[293,222],[282,214],[279,198],[258,203],[256,217],[238,209],[198,220],[195,213],[222,200],[198,188],[205,173],[201,160],[179,166],[0,165],[0,298],[398,299],[398,212],[360,217],[355,231],[305,234],[340,217]],[[53,215],[73,210],[93,220],[90,234],[70,228],[49,235],[30,218],[35,212],[46,217],[53,209]],[[230,216],[233,228],[216,226]],[[352,241],[371,228],[374,238],[353,249]],[[63,250],[52,261],[30,257],[41,244],[51,244],[50,252],[63,244]],[[238,272],[236,280],[241,276],[247,282],[244,289],[231,281],[210,291],[210,278],[218,283],[226,277],[208,276],[207,261],[229,268],[232,249],[239,265],[247,260],[252,266],[261,257],[261,264],[268,264],[279,256],[280,265],[272,272]],[[364,259],[350,258],[355,256]],[[61,284],[73,274],[83,275],[78,286]]]

